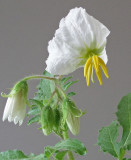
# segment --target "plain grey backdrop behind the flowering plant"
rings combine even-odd
[[[28,74],[41,74],[48,57],[47,44],[52,39],[59,21],[73,7],[84,7],[103,22],[111,34],[107,43],[110,78],[103,76],[103,86],[96,80],[86,87],[83,69],[75,71],[79,83],[73,87],[77,106],[87,110],[81,120],[77,137],[85,143],[89,160],[113,160],[99,152],[98,130],[115,119],[117,104],[131,92],[131,0],[0,0],[0,91],[8,92],[13,84]],[[39,81],[31,81],[29,97]],[[0,117],[6,99],[0,99]],[[54,145],[58,138],[44,136],[38,126],[21,127],[0,120],[0,151],[21,149],[25,153],[43,152],[45,145]],[[73,137],[73,136],[72,136]]]

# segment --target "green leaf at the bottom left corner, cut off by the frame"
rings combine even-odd
[[[44,155],[34,155],[31,154],[26,156],[22,151],[19,150],[9,150],[0,153],[0,160],[46,160],[44,159]]]

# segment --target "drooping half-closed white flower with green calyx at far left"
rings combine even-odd
[[[17,83],[8,96],[5,110],[3,113],[3,121],[8,118],[9,122],[14,121],[19,125],[23,123],[26,115],[28,85],[25,81]],[[6,96],[6,95],[3,95]]]

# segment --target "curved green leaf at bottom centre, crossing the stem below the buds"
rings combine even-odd
[[[45,156],[49,158],[56,151],[73,151],[79,155],[87,154],[86,147],[77,139],[67,139],[57,143],[55,146],[45,147]]]

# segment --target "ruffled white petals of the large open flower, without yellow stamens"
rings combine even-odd
[[[110,31],[83,8],[70,10],[60,21],[59,29],[49,42],[46,70],[52,74],[65,75],[81,67],[81,50],[100,47],[106,43]],[[95,43],[93,43],[95,42]],[[92,45],[93,44],[93,45]],[[84,53],[84,52],[83,52]],[[104,52],[105,54],[105,52]],[[107,61],[106,55],[102,55]]]

